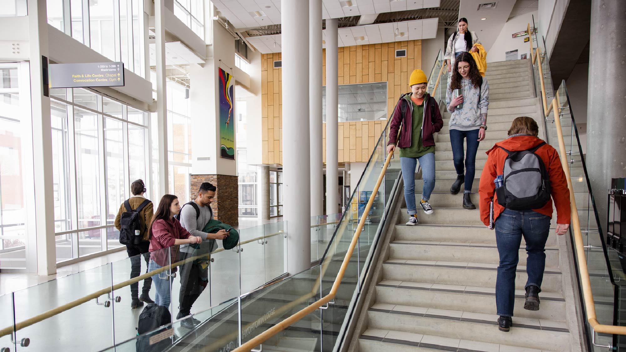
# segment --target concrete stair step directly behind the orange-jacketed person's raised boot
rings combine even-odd
[[[521,318],[565,320],[565,299],[558,293],[541,292],[541,309],[524,309],[524,289],[515,290],[513,315]],[[376,286],[376,303],[465,310],[497,314],[496,289],[480,286],[418,283],[384,279]]]

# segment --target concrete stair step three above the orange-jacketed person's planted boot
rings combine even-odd
[[[558,248],[546,246],[546,266],[558,267]],[[405,241],[391,243],[389,258],[419,259],[425,261],[478,261],[498,264],[498,248],[495,244],[445,243],[441,241]],[[519,263],[526,265],[526,249],[519,249]]]

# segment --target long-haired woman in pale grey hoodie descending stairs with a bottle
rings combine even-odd
[[[480,76],[471,54],[462,53],[454,65],[452,81],[448,85],[448,91],[446,91],[446,106],[448,106],[448,111],[452,113],[449,133],[454,169],[456,169],[457,175],[456,181],[450,188],[450,193],[459,193],[461,184],[464,184],[463,208],[476,209],[469,196],[476,173],[478,144],[485,139],[487,130],[489,84],[486,78]],[[453,96],[454,89],[460,89],[461,94]],[[463,104],[461,108],[459,108],[459,104]],[[467,139],[467,150],[463,148],[463,139]],[[464,163],[463,154],[465,154]]]

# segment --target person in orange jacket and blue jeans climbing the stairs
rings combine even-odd
[[[501,331],[509,331],[512,324],[511,316],[513,316],[513,304],[515,304],[515,275],[522,236],[524,236],[526,241],[526,253],[528,253],[528,259],[526,259],[528,281],[526,281],[525,285],[526,301],[524,309],[531,311],[539,310],[539,293],[541,292],[541,281],[543,281],[546,260],[545,244],[550,233],[550,219],[552,218],[552,200],[550,197],[539,209],[519,210],[518,208],[525,208],[520,206],[515,207],[518,210],[513,210],[505,208],[498,203],[498,196],[496,196],[493,181],[499,174],[505,176],[504,184],[506,189],[533,189],[531,192],[526,192],[527,194],[520,194],[520,192],[515,194],[516,197],[521,197],[515,199],[515,201],[518,201],[518,205],[520,205],[520,200],[526,204],[535,203],[536,205],[543,203],[541,197],[536,197],[537,194],[540,194],[541,188],[537,186],[530,187],[533,178],[528,175],[518,179],[509,177],[509,175],[515,176],[515,171],[507,172],[509,169],[512,169],[511,167],[505,169],[505,160],[509,153],[527,151],[529,149],[533,151],[536,148],[534,153],[543,161],[550,181],[549,195],[554,199],[555,208],[557,208],[557,228],[555,233],[558,235],[565,234],[570,224],[570,191],[567,188],[567,179],[565,178],[565,173],[563,173],[560,158],[556,149],[537,138],[538,133],[539,128],[534,119],[527,116],[515,118],[511,128],[508,130],[509,137],[504,141],[496,143],[493,148],[487,151],[488,157],[480,178],[480,187],[478,188],[480,218],[487,227],[489,227],[490,223],[490,202],[493,199],[496,245],[498,246],[498,254],[500,254],[500,265],[498,266],[498,274],[496,276],[496,309],[497,314],[500,316],[498,318],[498,328]],[[530,155],[527,153],[525,152],[521,159],[528,158]],[[518,155],[516,154],[515,160]],[[521,159],[519,162],[523,162]],[[511,160],[513,159],[509,159],[507,163],[510,164]],[[517,166],[518,168],[513,168],[516,171],[520,169],[520,166]],[[530,170],[528,174],[533,172],[533,169],[521,169]],[[536,171],[534,172],[536,173]],[[517,174],[519,174],[519,171]],[[542,179],[545,179],[545,176]],[[538,182],[539,180],[536,181],[536,183]],[[546,182],[541,181],[541,184],[546,184]],[[500,194],[502,193],[498,193],[498,195]],[[508,195],[506,199],[505,204],[508,206],[508,199],[510,199]],[[529,199],[530,203],[528,203]]]

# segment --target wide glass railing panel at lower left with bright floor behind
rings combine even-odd
[[[17,344],[16,351],[69,351],[76,346],[97,350],[111,346],[115,343],[113,305],[116,303],[107,297],[111,282],[111,264],[105,264],[16,291],[16,324],[63,304],[75,304],[16,331],[16,341],[30,340],[28,346]],[[93,298],[82,301],[90,294]],[[92,328],[86,328],[86,324]]]

